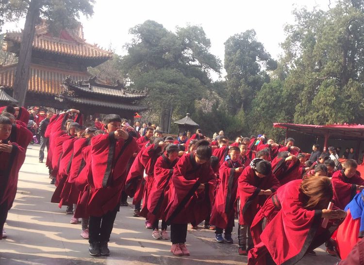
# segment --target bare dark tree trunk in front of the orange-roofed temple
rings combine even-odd
[[[19,59],[14,80],[14,98],[24,106],[25,96],[28,90],[29,69],[32,59],[33,40],[35,26],[39,18],[39,0],[31,0],[25,18],[23,37],[20,43]]]

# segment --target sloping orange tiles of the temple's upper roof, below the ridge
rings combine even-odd
[[[22,32],[8,32],[4,36],[6,42],[5,49],[9,51],[14,44],[21,43]],[[35,35],[33,49],[44,52],[57,53],[66,56],[87,58],[87,59],[111,59],[113,52],[103,50],[97,46],[88,44],[84,41],[66,40],[60,37],[52,37],[50,34]]]

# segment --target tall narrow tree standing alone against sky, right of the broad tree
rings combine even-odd
[[[251,107],[251,101],[264,82],[269,82],[266,70],[277,68],[254,30],[235,34],[225,42],[225,70],[228,81],[227,97],[233,114]],[[264,67],[262,70],[262,66]]]

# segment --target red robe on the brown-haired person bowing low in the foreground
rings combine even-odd
[[[277,190],[281,209],[272,211],[273,217],[261,234],[261,243],[251,249],[248,264],[265,264],[265,255],[270,253],[276,264],[295,264],[308,250],[326,242],[338,223],[329,222],[321,227],[322,210],[304,208],[305,195],[299,186],[302,180],[294,180]]]

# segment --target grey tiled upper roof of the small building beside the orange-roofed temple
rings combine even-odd
[[[133,93],[125,90],[124,84],[120,83],[119,80],[116,80],[115,86],[97,83],[96,77],[89,78],[87,81],[74,81],[71,78],[66,78],[64,85],[68,87],[68,90],[71,88],[87,94],[108,95],[120,98],[138,99],[147,95],[144,92]]]

